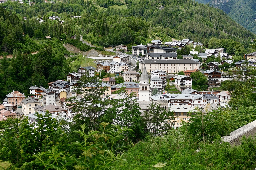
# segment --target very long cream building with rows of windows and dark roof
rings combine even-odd
[[[199,63],[193,60],[144,60],[139,63],[139,69],[143,69],[143,67],[151,72],[153,70],[160,70],[165,73],[178,73],[180,71],[185,70],[194,70],[199,68]]]

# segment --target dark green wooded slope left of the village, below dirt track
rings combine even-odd
[[[65,79],[70,72],[64,54],[69,52],[58,39],[41,41],[37,54],[23,54],[13,51],[13,58],[0,60],[0,99],[16,90],[25,95],[29,88],[37,85],[47,88],[48,82]]]

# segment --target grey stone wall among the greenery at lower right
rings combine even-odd
[[[225,142],[229,142],[231,145],[240,145],[241,138],[245,137],[255,137],[256,135],[256,121],[246,124],[245,126],[230,133],[230,136],[223,136]]]

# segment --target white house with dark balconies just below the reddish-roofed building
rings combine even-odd
[[[192,78],[189,76],[177,75],[174,77],[174,85],[178,88],[179,91],[182,91],[186,88],[191,89],[192,87]]]

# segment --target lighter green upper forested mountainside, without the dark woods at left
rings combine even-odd
[[[145,44],[149,37],[160,37],[163,41],[189,38],[208,47],[210,38],[215,37],[243,40],[241,42],[248,48],[249,40],[255,37],[223,11],[192,0],[165,0],[161,3],[127,0],[124,5],[118,0],[98,0],[95,3],[72,0],[55,4],[35,1],[31,7],[27,3],[8,1],[5,6],[19,17],[22,28],[19,31],[23,30],[29,37],[65,39],[81,34],[87,41],[100,46]],[[6,13],[1,10],[0,17],[1,13]],[[60,16],[65,22],[61,25],[58,20],[48,19],[52,15]],[[81,19],[71,17],[75,15],[81,15]],[[45,21],[39,24],[35,17],[42,17]]]

